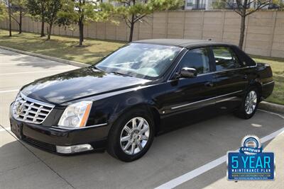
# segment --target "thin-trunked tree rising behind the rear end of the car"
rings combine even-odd
[[[229,8],[232,8],[241,16],[241,33],[239,37],[239,48],[244,45],[244,30],[246,28],[246,16],[264,8],[271,4],[271,0],[220,0],[226,3]]]

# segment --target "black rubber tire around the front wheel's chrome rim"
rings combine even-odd
[[[143,147],[141,151],[139,151],[137,154],[126,154],[124,150],[121,147],[120,137],[121,132],[124,129],[124,126],[126,125],[129,120],[132,118],[140,117],[145,119],[148,122],[149,126],[149,136],[148,136],[148,142]],[[155,132],[155,125],[153,122],[153,118],[151,113],[148,113],[147,110],[143,109],[133,109],[129,110],[129,112],[124,113],[116,122],[114,122],[114,125],[112,125],[111,130],[109,131],[109,139],[108,139],[108,146],[107,146],[107,152],[114,156],[116,159],[120,159],[121,161],[130,162],[135,161],[136,159],[141,158],[148,149],[151,147],[151,144],[153,142],[154,138],[154,132]]]

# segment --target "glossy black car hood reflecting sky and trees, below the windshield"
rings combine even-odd
[[[21,92],[38,101],[60,104],[136,87],[146,84],[148,81],[150,80],[109,74],[87,67],[35,80],[31,84],[23,86]]]

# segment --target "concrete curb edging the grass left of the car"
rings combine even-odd
[[[60,63],[63,63],[63,64],[70,64],[70,65],[75,66],[75,67],[89,67],[90,66],[89,64],[84,64],[84,63],[81,63],[81,62],[75,62],[75,61],[72,61],[72,60],[50,57],[50,56],[47,56],[47,55],[40,55],[40,54],[36,54],[36,53],[33,53],[33,52],[27,52],[27,51],[23,51],[23,50],[16,50],[16,49],[13,49],[13,48],[10,48],[10,47],[0,46],[0,49],[10,50],[10,51],[13,51],[13,52],[18,52],[18,53],[21,53],[21,54],[24,54],[24,55],[30,55],[30,56],[33,56],[33,57],[40,57],[40,58],[43,58],[43,59],[49,59],[49,60],[52,60],[52,61],[55,61],[55,62],[60,62]]]

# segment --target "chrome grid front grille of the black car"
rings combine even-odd
[[[13,104],[13,117],[23,122],[40,124],[48,117],[53,108],[54,105],[36,101],[18,93]]]

